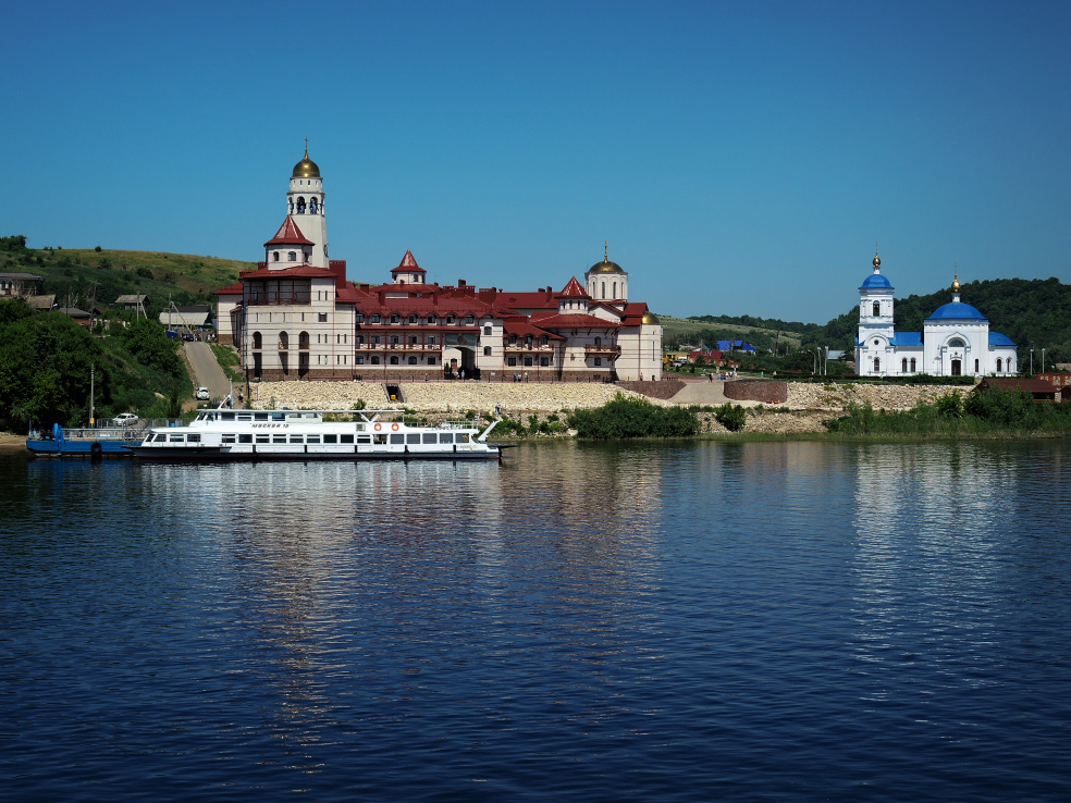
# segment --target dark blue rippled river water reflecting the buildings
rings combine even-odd
[[[1066,801],[1071,448],[0,455],[8,800]]]

